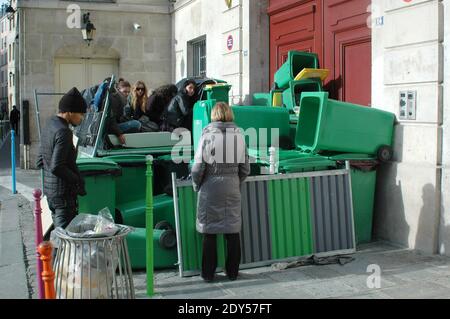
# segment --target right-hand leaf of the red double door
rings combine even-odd
[[[372,76],[370,0],[324,0],[326,88],[341,101],[370,105]]]

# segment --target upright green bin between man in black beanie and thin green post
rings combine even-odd
[[[107,207],[113,217],[116,209],[116,177],[120,167],[113,161],[102,158],[81,158],[77,166],[84,178],[86,196],[78,197],[80,213],[98,214]]]

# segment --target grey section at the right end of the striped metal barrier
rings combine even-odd
[[[348,175],[310,178],[314,253],[354,249]]]

